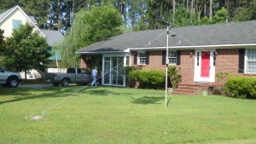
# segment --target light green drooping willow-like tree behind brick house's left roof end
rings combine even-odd
[[[121,14],[113,5],[102,4],[81,9],[74,15],[73,26],[58,47],[61,51],[61,66],[79,66],[76,50],[120,34],[123,24]]]

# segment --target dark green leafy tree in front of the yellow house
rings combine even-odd
[[[6,39],[6,48],[2,49],[2,65],[11,71],[26,72],[35,69],[44,72],[49,58],[45,37],[33,32],[33,26],[26,23]]]

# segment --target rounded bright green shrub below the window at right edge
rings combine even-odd
[[[256,78],[232,77],[225,86],[226,95],[241,99],[256,98]]]

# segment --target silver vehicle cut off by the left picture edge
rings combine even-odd
[[[0,84],[3,87],[11,87],[16,88],[21,81],[20,73],[19,72],[6,72],[0,66]]]

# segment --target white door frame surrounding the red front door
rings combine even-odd
[[[210,51],[210,73],[209,78],[201,77],[201,52]],[[214,83],[215,82],[215,66],[213,66],[215,49],[211,50],[195,50],[195,70],[194,82],[198,83]]]

